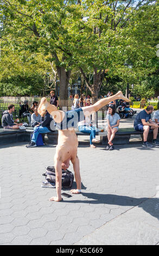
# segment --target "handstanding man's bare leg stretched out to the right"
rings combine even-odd
[[[109,102],[117,99],[124,99],[125,101],[130,101],[127,97],[123,95],[121,91],[119,91],[117,94],[101,99],[91,106],[82,107],[82,111],[84,112],[85,117],[89,117],[94,112],[97,112],[101,107],[104,107],[105,105],[109,104]]]

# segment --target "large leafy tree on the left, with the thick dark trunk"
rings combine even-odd
[[[3,45],[49,55],[58,72],[62,99],[67,98],[73,63],[67,25],[68,20],[80,19],[77,6],[80,1],[2,0],[0,4]]]

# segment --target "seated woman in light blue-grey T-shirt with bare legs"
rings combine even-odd
[[[107,139],[108,139],[108,144],[109,146],[112,146],[112,140],[115,137],[116,132],[119,129],[119,120],[120,117],[116,113],[116,107],[111,105],[108,108],[108,114],[106,115],[107,119]]]

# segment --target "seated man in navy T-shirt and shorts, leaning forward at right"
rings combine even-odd
[[[146,109],[139,112],[134,121],[134,129],[136,131],[143,131],[143,147],[152,148],[153,145],[147,142],[149,130],[153,130],[153,144],[159,146],[157,142],[158,125],[151,119],[151,114],[154,111],[154,107],[149,105]]]

